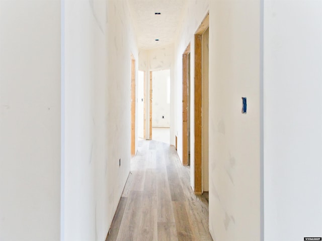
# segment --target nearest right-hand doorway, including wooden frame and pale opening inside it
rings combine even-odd
[[[195,190],[196,194],[208,191],[209,186],[209,14],[195,34]]]

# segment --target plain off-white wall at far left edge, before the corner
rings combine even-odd
[[[60,238],[60,1],[0,1],[0,240]]]

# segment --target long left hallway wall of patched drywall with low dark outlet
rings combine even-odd
[[[129,16],[125,1],[65,1],[65,240],[105,240],[130,171]]]

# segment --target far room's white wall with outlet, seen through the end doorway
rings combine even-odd
[[[170,97],[170,82],[168,83],[168,79],[170,80],[170,69],[152,72],[153,128],[170,128],[170,98],[168,99],[168,94]]]

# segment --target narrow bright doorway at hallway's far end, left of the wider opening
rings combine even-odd
[[[137,81],[137,138],[145,139],[145,72],[138,71]]]

